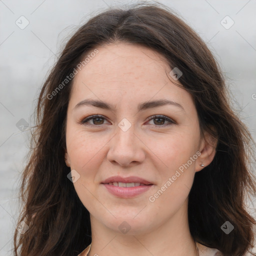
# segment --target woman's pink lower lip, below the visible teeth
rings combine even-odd
[[[129,198],[129,197],[139,195],[147,191],[148,189],[150,189],[150,187],[152,186],[152,185],[143,185],[143,186],[122,187],[122,186],[114,186],[106,183],[102,183],[102,184],[105,186],[108,192],[123,198]]]

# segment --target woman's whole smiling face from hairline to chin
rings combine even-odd
[[[65,161],[91,220],[149,232],[186,216],[194,173],[210,161],[197,112],[158,53],[129,43],[97,49],[72,85]],[[148,103],[160,100],[172,103]]]

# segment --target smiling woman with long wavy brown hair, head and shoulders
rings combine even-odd
[[[211,52],[166,9],[109,9],[67,42],[38,98],[15,255],[253,247],[252,138]]]

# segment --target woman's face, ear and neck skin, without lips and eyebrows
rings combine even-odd
[[[192,97],[173,84],[171,68],[159,53],[123,42],[97,49],[75,75],[66,123],[65,162],[79,173],[73,185],[90,212],[90,255],[197,255],[188,228],[188,194],[195,172],[203,168],[200,164],[207,166],[212,161],[216,141],[207,133],[200,137]],[[107,101],[114,109],[74,108],[85,98]],[[183,109],[164,105],[137,111],[139,103],[162,98]],[[80,122],[92,114],[105,119],[89,120],[87,125]],[[154,114],[175,123],[148,120]],[[131,124],[127,131],[118,126],[123,118]],[[150,202],[149,196],[197,151],[200,156]],[[138,176],[154,185],[135,197],[121,198],[100,184],[113,175]],[[118,228],[123,221],[130,226],[125,234]]]

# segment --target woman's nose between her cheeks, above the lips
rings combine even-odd
[[[133,127],[131,125],[126,131],[117,127],[116,134],[109,141],[108,161],[121,166],[130,166],[141,163],[145,159],[145,145],[134,133]]]

